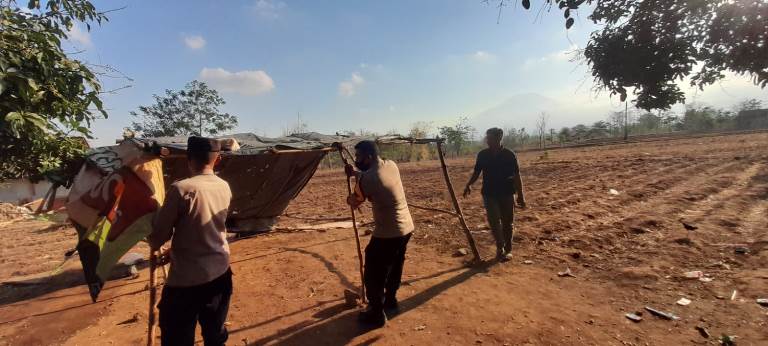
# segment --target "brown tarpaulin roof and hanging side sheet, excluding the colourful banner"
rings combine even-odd
[[[234,139],[239,149],[222,152],[217,174],[232,188],[232,203],[227,218],[232,232],[266,231],[283,214],[314,175],[325,155],[335,150],[334,143],[353,146],[370,139],[380,143],[410,143],[401,136],[362,137],[303,133],[268,138],[253,133],[225,136]],[[187,137],[138,139],[146,144],[168,148],[163,158],[168,184],[189,175],[186,162]]]

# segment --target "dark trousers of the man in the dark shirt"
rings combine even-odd
[[[513,224],[515,196],[483,195],[483,203],[488,215],[488,225],[496,240],[497,253],[505,254],[512,251],[512,234],[515,231]]]

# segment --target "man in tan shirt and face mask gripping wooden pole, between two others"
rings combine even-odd
[[[360,313],[359,321],[376,327],[386,324],[386,313],[397,313],[397,290],[403,275],[403,262],[413,220],[405,200],[400,170],[395,162],[379,157],[373,141],[355,145],[355,166],[345,167],[347,175],[357,176],[358,185],[347,203],[354,208],[365,200],[373,208],[374,229],[365,248],[363,281],[368,309]]]

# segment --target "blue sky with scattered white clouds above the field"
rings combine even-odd
[[[534,2],[536,3],[536,2]],[[558,128],[623,109],[591,91],[568,52],[595,29],[581,14],[566,31],[559,12],[498,10],[480,0],[424,1],[97,1],[110,21],[71,35],[78,57],[108,64],[133,81],[105,79],[109,118],[93,144],[114,143],[129,112],[152,94],[208,82],[237,115],[234,132],[278,136],[297,114],[310,130],[407,132],[467,116],[478,128],[532,128],[537,115]],[[689,100],[728,107],[765,98],[729,78]]]

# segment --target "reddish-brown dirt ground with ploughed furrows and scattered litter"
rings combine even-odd
[[[516,215],[514,259],[466,266],[469,256],[453,256],[466,246],[455,218],[412,210],[417,230],[399,294],[402,312],[377,330],[360,328],[356,311],[344,306],[344,289],[360,284],[352,231],[294,230],[348,217],[343,174],[319,172],[280,231],[232,243],[229,343],[714,345],[729,335],[739,345],[768,344],[768,309],[755,301],[768,298],[768,134],[520,159],[529,208]],[[457,189],[471,165],[449,161]],[[436,162],[403,164],[401,171],[409,202],[451,208]],[[481,253],[491,258],[479,194],[461,204]],[[363,221],[370,217],[364,209]],[[688,232],[680,220],[698,229]],[[0,344],[145,342],[146,270],[107,283],[92,304],[77,258],[49,275],[75,245],[71,228],[25,220],[0,232],[0,281],[15,281],[0,286]],[[558,276],[566,268],[575,277]],[[683,277],[693,270],[711,281]],[[691,303],[676,304],[680,298]],[[655,317],[646,306],[679,319]],[[643,320],[625,318],[633,312]]]

